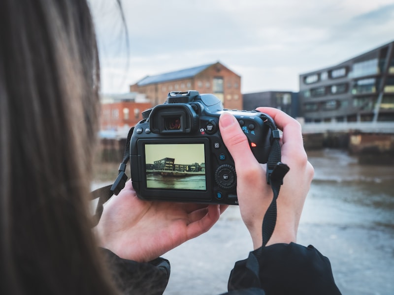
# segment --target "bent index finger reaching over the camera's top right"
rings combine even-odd
[[[304,146],[301,124],[295,118],[274,108],[260,107],[257,110],[270,116],[275,121],[276,126],[283,131],[283,144],[291,142]]]

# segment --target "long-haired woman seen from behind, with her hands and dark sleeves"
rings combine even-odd
[[[92,233],[87,196],[97,144],[99,61],[89,7],[85,0],[1,0],[0,18],[0,294],[162,293],[169,264],[159,256],[209,230],[226,207],[143,202],[128,182],[104,206]],[[313,176],[299,124],[280,111],[261,111],[283,130],[282,159],[291,170],[278,198],[271,245],[260,251],[261,267],[256,272],[249,260],[237,263],[229,289],[281,294],[280,284],[264,277],[264,267],[275,273],[285,251],[292,263],[305,258],[303,273],[315,272],[324,290],[336,292],[328,260],[291,243]],[[222,115],[220,128],[235,161],[242,218],[258,250],[272,192],[234,118]],[[295,281],[296,290],[309,287],[291,273],[283,279]],[[318,289],[304,294],[310,290]]]

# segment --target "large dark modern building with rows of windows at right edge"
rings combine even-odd
[[[299,76],[305,122],[394,121],[394,41]]]

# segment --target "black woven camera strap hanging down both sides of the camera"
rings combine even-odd
[[[285,177],[290,168],[289,166],[281,162],[281,151],[279,143],[280,136],[279,130],[276,128],[275,123],[272,121],[271,118],[265,116],[264,114],[261,114],[260,117],[264,120],[264,123],[268,124],[269,128],[271,129],[272,136],[271,151],[268,155],[266,168],[266,181],[268,184],[271,185],[273,198],[263,218],[262,234],[264,247],[272,236],[272,233],[275,229],[277,216],[276,200],[279,195],[280,186],[283,184],[283,178]],[[126,181],[128,179],[126,175],[126,164],[130,159],[130,141],[133,130],[134,127],[129,130],[123,161],[119,165],[119,174],[115,182],[113,184],[96,189],[91,193],[92,200],[99,199],[96,206],[96,213],[94,215],[94,226],[99,223],[104,203],[107,202],[112,197],[112,195],[118,195],[119,192],[125,187]]]

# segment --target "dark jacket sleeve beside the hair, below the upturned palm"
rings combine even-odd
[[[163,294],[170,275],[168,260],[159,257],[149,263],[138,263],[122,259],[108,249],[101,248],[101,251],[123,294]]]

